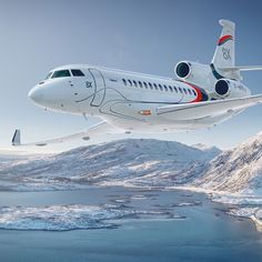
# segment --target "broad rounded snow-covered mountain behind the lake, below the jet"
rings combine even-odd
[[[13,190],[90,184],[181,185],[202,175],[219,152],[179,142],[128,139],[0,164],[0,183]]]

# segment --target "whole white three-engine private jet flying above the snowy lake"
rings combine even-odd
[[[181,61],[174,68],[178,80],[85,64],[53,69],[30,90],[29,98],[44,109],[94,115],[101,122],[79,133],[24,144],[16,130],[12,144],[47,145],[99,133],[211,128],[261,103],[262,94],[251,95],[240,72],[262,70],[262,66],[235,67],[235,24],[229,20],[220,20],[220,24],[222,33],[211,64]]]

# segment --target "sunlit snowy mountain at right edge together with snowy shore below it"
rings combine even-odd
[[[230,214],[252,219],[262,231],[262,132],[214,158],[192,185],[214,191],[213,201],[231,205]]]

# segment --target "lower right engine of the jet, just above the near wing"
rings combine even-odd
[[[220,79],[214,85],[219,98],[243,98],[251,94],[250,90],[241,82],[231,79]]]

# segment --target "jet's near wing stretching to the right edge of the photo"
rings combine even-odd
[[[157,114],[170,115],[177,120],[190,120],[225,112],[239,111],[258,103],[262,103],[262,94],[239,99],[163,105],[157,109]]]

